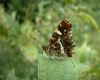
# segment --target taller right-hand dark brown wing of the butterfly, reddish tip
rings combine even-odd
[[[68,57],[72,57],[72,51],[73,51],[73,47],[75,47],[74,42],[72,40],[72,25],[71,22],[69,20],[63,20],[59,26],[58,26],[58,30],[62,33],[62,35],[60,36],[60,41],[62,43],[62,46],[64,48],[64,53],[68,56]]]

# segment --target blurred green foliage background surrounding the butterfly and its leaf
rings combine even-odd
[[[100,0],[0,0],[0,80],[38,80],[38,54],[64,19],[73,26],[79,80],[100,80]]]

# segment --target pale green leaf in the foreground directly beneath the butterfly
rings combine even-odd
[[[39,80],[77,80],[77,74],[69,59],[39,55]]]

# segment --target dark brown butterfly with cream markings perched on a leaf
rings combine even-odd
[[[48,44],[43,45],[42,48],[49,56],[72,57],[75,45],[72,39],[72,24],[69,20],[64,19],[53,32]]]

